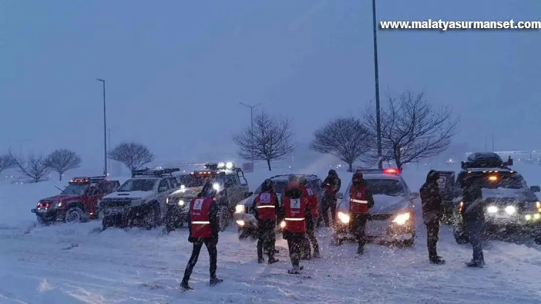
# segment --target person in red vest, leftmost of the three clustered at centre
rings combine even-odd
[[[254,217],[258,220],[258,263],[263,262],[263,246],[268,250],[268,264],[279,260],[274,258],[276,242],[276,213],[280,211],[278,197],[274,193],[274,183],[270,179],[263,181],[261,193],[254,199]]]

